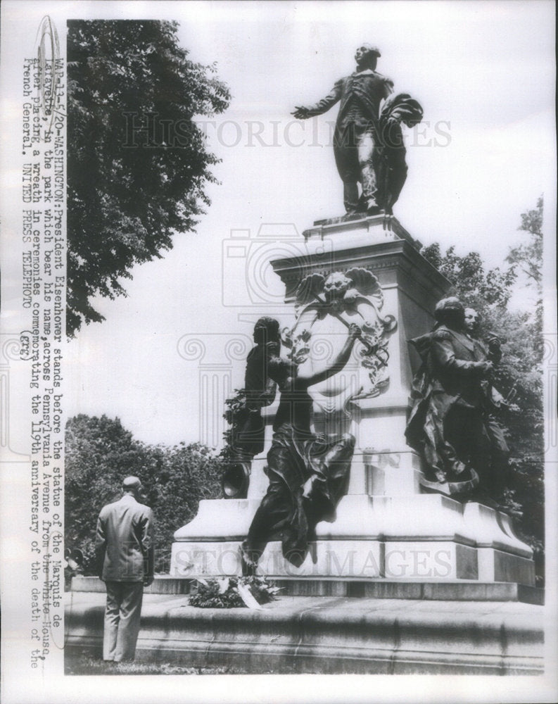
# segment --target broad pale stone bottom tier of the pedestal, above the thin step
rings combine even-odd
[[[259,501],[201,501],[196,518],[175,533],[170,574],[241,574],[239,546]],[[317,541],[300,567],[268,544],[258,565],[267,577],[464,579],[534,585],[531,548],[509,517],[478,503],[440,494],[345,496],[333,523],[317,526]]]

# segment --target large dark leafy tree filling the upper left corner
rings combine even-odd
[[[196,115],[221,113],[215,65],[187,58],[177,23],[68,22],[67,332],[103,316],[93,296],[125,295],[119,279],[172,249],[209,204],[215,179]]]

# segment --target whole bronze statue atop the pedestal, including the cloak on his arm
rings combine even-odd
[[[375,46],[362,44],[355,53],[355,73],[338,80],[331,93],[314,106],[296,106],[292,113],[306,120],[341,101],[334,154],[347,215],[374,215],[380,210],[391,214],[407,177],[400,123],[412,126],[422,119],[421,106],[407,94],[391,96],[381,108],[381,101],[393,92],[393,82],[376,73],[379,56]]]

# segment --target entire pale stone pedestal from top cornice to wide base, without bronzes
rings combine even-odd
[[[299,568],[284,560],[279,543],[270,543],[259,572],[533,585],[533,553],[514,534],[509,517],[478,503],[421,493],[420,461],[405,443],[411,382],[419,365],[407,340],[431,329],[431,311],[448,281],[421,256],[397,220],[391,230],[384,229],[382,215],[317,222],[304,236],[305,256],[272,262],[285,284],[287,306],[309,274],[367,268],[383,290],[382,314],[393,315],[397,328],[387,347],[388,385],[356,403],[350,484],[336,521],[318,525],[318,539]],[[172,576],[240,574],[239,544],[267,488],[263,467],[276,410],[277,402],[265,409],[265,452],[253,460],[248,498],[200,502],[196,518],[175,533]],[[317,414],[317,425],[320,420]]]

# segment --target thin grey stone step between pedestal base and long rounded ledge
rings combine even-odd
[[[424,601],[516,601],[543,605],[545,592],[534,586],[515,582],[469,582],[466,579],[448,582],[426,580],[357,579],[347,577],[281,577],[268,579],[281,587],[284,596],[338,596],[349,598],[406,599]],[[160,576],[146,587],[148,594],[188,594],[195,578]],[[72,579],[72,591],[104,592],[105,585],[97,577]]]

